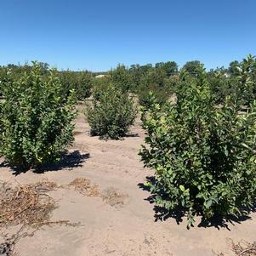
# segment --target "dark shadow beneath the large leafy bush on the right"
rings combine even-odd
[[[155,177],[146,177],[146,181],[151,182],[152,184],[155,183],[156,179]],[[138,184],[139,188],[142,189],[143,191],[150,191],[149,186],[145,185],[144,183],[139,183]],[[148,196],[145,198],[145,201],[150,202],[151,204],[155,203],[156,199],[156,194],[153,194],[151,196]],[[155,221],[165,221],[169,218],[175,219],[177,225],[179,225],[181,222],[186,221],[186,211],[184,208],[175,208],[173,211],[168,211],[166,208],[162,208],[160,206],[154,206],[153,208],[155,214],[154,218]],[[247,208],[244,208],[243,210],[247,210],[248,213],[255,213],[256,212],[256,202],[253,205],[253,208],[248,210]],[[223,218],[221,216],[214,216],[210,219],[205,219],[202,217],[200,213],[196,213],[196,216],[198,216],[199,219],[199,224],[197,224],[197,227],[199,228],[208,228],[208,227],[214,227],[218,230],[221,228],[225,228],[226,230],[230,230],[230,225],[236,225],[236,224],[241,224],[243,221],[252,219],[248,215],[242,215],[241,217],[233,217],[230,216],[229,218]],[[198,219],[196,218],[196,222],[198,222]]]

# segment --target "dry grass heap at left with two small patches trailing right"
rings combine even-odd
[[[100,196],[112,207],[122,206],[128,195],[115,188],[107,188],[100,192],[99,186],[90,179],[77,178],[69,185],[60,186],[54,182],[43,180],[32,185],[17,185],[12,188],[7,183],[0,183],[0,226],[8,225],[71,225],[67,220],[50,221],[51,213],[56,208],[54,199],[48,191],[57,188],[73,187],[83,196]]]

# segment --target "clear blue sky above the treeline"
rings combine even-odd
[[[255,0],[2,0],[0,65],[105,71],[201,60],[215,68],[256,54],[255,15]]]

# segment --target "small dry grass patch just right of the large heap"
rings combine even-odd
[[[78,191],[83,196],[99,196],[99,186],[91,184],[90,179],[87,178],[77,178],[71,181],[69,186],[73,186],[76,191]]]

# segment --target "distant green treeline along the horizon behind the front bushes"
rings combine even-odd
[[[47,63],[39,62],[41,72],[45,75],[49,72]],[[174,61],[159,62],[155,65],[117,65],[117,68],[107,72],[92,71],[55,71],[62,83],[63,95],[69,94],[71,89],[75,89],[78,100],[84,100],[91,96],[94,90],[101,91],[109,85],[113,85],[122,90],[123,93],[133,93],[139,95],[139,103],[147,105],[149,92],[153,92],[156,100],[160,104],[170,99],[179,92],[186,81],[197,79],[198,70],[202,68],[202,63],[198,60],[188,61],[183,67],[179,68]],[[3,65],[0,66],[0,81],[3,81],[7,72],[11,71],[14,78],[19,78],[25,71],[31,71],[31,65]],[[241,74],[246,71],[247,77],[251,82],[247,83],[247,88],[242,88]],[[184,76],[186,74],[186,76]],[[100,78],[98,77],[101,76]],[[234,60],[225,68],[216,68],[207,72],[207,79],[210,84],[216,104],[221,104],[227,95],[237,96],[243,100],[244,104],[255,99],[256,82],[256,60],[252,55],[241,62]],[[240,80],[239,80],[240,79]],[[1,85],[2,84],[2,85]],[[3,82],[0,83],[0,95]]]

